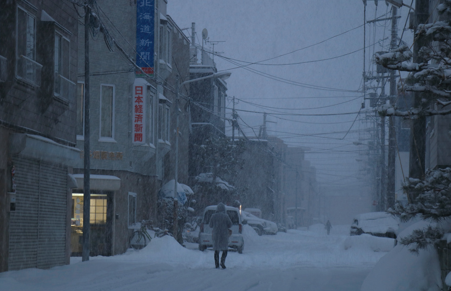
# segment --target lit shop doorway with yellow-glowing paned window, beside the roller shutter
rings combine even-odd
[[[110,256],[113,241],[113,191],[92,191],[89,202],[90,256]],[[83,191],[72,193],[71,256],[83,250]]]

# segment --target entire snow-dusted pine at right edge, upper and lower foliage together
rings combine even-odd
[[[413,54],[405,45],[375,56],[377,64],[409,72],[405,83],[400,84],[401,91],[424,93],[419,107],[400,111],[394,104],[385,104],[378,108],[380,115],[416,119],[451,114],[451,0],[443,1],[437,10],[446,20],[420,24],[415,33],[415,39],[424,37],[429,43],[420,48],[419,62],[412,62]],[[401,238],[400,243],[409,245],[414,253],[437,247],[444,234],[451,232],[451,168],[428,170],[422,179],[406,178],[403,189],[409,194],[409,203],[397,201],[388,212],[402,222],[418,216],[431,224]]]

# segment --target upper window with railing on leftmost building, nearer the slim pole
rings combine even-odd
[[[74,90],[73,82],[69,80],[70,42],[67,38],[55,33],[55,60],[54,60],[54,91],[55,95],[69,101]]]

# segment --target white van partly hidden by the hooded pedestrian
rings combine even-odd
[[[199,231],[199,250],[204,251],[207,248],[213,247],[212,240],[212,228],[208,225],[210,223],[210,217],[216,212],[216,205],[207,206],[203,212],[202,222],[200,224]],[[243,253],[244,238],[243,234],[243,222],[241,215],[239,215],[239,209],[231,206],[226,206],[226,213],[229,215],[232,221],[232,235],[229,237],[229,248],[236,249],[239,254]]]

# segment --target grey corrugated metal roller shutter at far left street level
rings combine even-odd
[[[9,270],[65,263],[67,168],[14,157],[16,211],[9,227]]]

